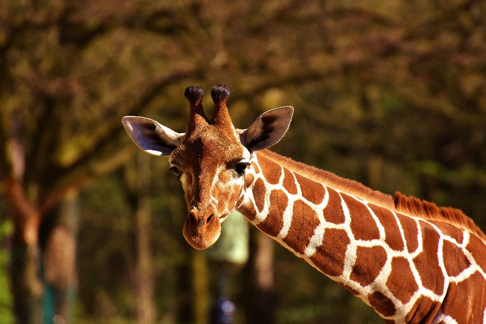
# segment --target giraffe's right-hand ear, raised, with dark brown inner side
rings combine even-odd
[[[241,133],[241,143],[253,154],[277,143],[289,129],[294,108],[285,106],[268,110]]]

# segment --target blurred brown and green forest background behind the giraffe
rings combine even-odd
[[[120,119],[184,132],[185,87],[222,83],[238,128],[294,106],[272,150],[486,230],[484,1],[2,0],[0,323],[206,324],[220,268],[236,323],[380,321],[256,228],[245,264],[185,242]]]

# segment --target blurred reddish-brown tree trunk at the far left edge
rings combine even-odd
[[[2,63],[4,63],[2,61]],[[0,63],[0,64],[2,64]],[[1,86],[1,85],[0,85]],[[2,106],[7,90],[0,89]],[[38,198],[37,187],[30,185],[30,195],[24,183],[25,150],[22,146],[22,119],[16,113],[7,114],[11,123],[10,133],[3,134],[2,144],[6,149],[1,154],[5,174],[5,188],[12,218],[15,224],[11,256],[11,290],[14,298],[16,322],[22,324],[41,324],[42,298],[44,286],[40,276],[40,251],[38,231],[42,213],[32,201]],[[4,120],[2,120],[4,121]]]

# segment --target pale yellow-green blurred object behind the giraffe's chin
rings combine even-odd
[[[215,261],[244,264],[249,254],[248,237],[248,220],[234,211],[221,224],[221,235],[216,243],[206,250],[207,256]]]

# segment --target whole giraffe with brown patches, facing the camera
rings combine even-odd
[[[372,306],[386,323],[486,323],[486,236],[460,210],[390,195],[267,150],[287,132],[293,107],[233,127],[215,86],[209,119],[203,87],[187,87],[185,133],[126,116],[133,141],[169,156],[188,215],[183,235],[214,244],[237,210],[260,230]]]

